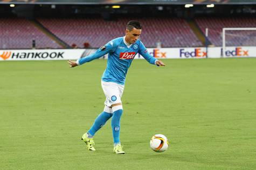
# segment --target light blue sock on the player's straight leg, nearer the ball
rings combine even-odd
[[[112,126],[113,138],[114,138],[114,145],[117,145],[117,144],[120,144],[120,119],[123,113],[123,109],[121,107],[121,109],[118,109],[116,111],[114,110],[115,109],[113,108],[113,117],[111,121],[111,126]]]

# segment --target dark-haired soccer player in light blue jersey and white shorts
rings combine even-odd
[[[126,26],[126,35],[109,41],[92,55],[68,61],[71,68],[91,62],[96,58],[108,54],[107,68],[101,78],[101,86],[106,95],[105,108],[103,112],[96,117],[94,124],[84,135],[82,141],[87,145],[87,149],[95,151],[93,136],[109,119],[112,117],[111,126],[114,138],[114,152],[124,153],[123,146],[120,143],[120,119],[123,113],[121,97],[126,80],[126,73],[133,58],[137,53],[142,55],[150,64],[164,66],[165,64],[151,56],[146,47],[141,42],[141,24],[138,21],[129,21]]]

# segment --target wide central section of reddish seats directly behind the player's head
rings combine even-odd
[[[61,40],[76,44],[79,48],[88,42],[90,47],[98,48],[109,40],[124,35],[124,26],[128,20],[105,21],[101,18],[39,18],[38,21]],[[188,23],[176,18],[137,19],[143,25],[141,39],[146,47],[156,47],[159,39],[162,47],[196,47],[202,46]]]

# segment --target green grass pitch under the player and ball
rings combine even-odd
[[[106,61],[0,62],[0,169],[256,169],[256,58],[136,60],[123,93],[116,155],[110,121],[80,137],[102,112]],[[171,145],[149,147],[154,134]]]

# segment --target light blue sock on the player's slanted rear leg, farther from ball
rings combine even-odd
[[[108,120],[112,117],[112,113],[102,112],[99,116],[95,119],[91,129],[89,129],[88,133],[91,136],[94,136],[96,131],[98,131]]]

